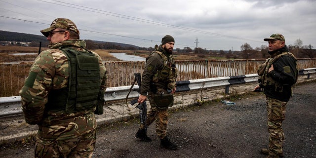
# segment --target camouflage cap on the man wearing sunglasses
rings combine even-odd
[[[40,30],[40,32],[45,36],[48,37],[49,36],[49,32],[56,29],[56,28],[61,28],[61,29],[67,29],[70,31],[73,31],[75,33],[77,33],[79,35],[79,30],[77,29],[76,24],[69,20],[69,19],[65,19],[65,18],[57,18],[55,19],[51,24],[50,27],[44,30]]]

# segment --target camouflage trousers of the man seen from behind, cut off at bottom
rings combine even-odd
[[[35,158],[92,158],[96,129],[73,139],[55,142],[37,139]]]

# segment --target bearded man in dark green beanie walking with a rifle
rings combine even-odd
[[[161,45],[156,45],[156,50],[146,59],[145,69],[142,75],[142,83],[138,103],[146,101],[146,94],[149,95],[151,105],[147,115],[145,126],[149,126],[156,121],[156,132],[160,139],[160,147],[169,150],[176,150],[177,145],[170,142],[166,128],[168,124],[168,106],[158,105],[154,101],[155,94],[166,94],[167,89],[173,94],[176,90],[177,69],[172,56],[174,45],[173,37],[166,35],[161,40]],[[172,101],[173,104],[173,101]],[[149,142],[152,141],[146,134],[146,128],[140,126],[136,133],[136,137]]]

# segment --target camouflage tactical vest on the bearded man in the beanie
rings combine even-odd
[[[160,70],[157,70],[153,77],[153,82],[175,82],[177,79],[178,69],[175,66],[174,59],[172,55],[167,57],[160,51],[154,51],[153,53],[158,53],[163,60],[163,67]]]

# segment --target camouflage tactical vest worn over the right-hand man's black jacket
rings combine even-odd
[[[261,80],[262,80],[262,84],[264,86],[266,85],[271,85],[271,84],[275,84],[276,85],[276,89],[278,89],[278,91],[282,90],[282,87],[281,87],[281,83],[279,82],[276,82],[274,79],[272,79],[271,77],[268,76],[268,72],[269,72],[269,68],[271,67],[271,65],[277,60],[279,59],[282,55],[290,55],[292,56],[296,63],[297,63],[297,59],[295,58],[295,56],[290,53],[290,52],[283,52],[281,54],[278,54],[276,55],[275,57],[273,58],[268,58],[266,60],[266,62],[264,63],[264,65],[261,65],[261,69],[264,70],[264,72],[262,74],[259,73],[259,70],[260,70],[260,66],[259,66],[259,69],[258,69],[258,75],[261,76]],[[297,64],[296,64],[296,71],[295,71],[295,82],[297,81],[297,77],[298,77],[298,69],[297,69]]]

